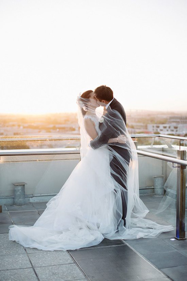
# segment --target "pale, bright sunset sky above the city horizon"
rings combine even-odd
[[[112,88],[125,110],[187,111],[187,1],[0,0],[0,113],[75,112]]]

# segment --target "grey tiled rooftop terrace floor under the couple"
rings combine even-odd
[[[147,218],[170,224],[175,216],[166,213],[166,222],[156,217],[154,208],[160,198],[143,195],[150,209]],[[0,213],[0,280],[19,281],[184,281],[187,276],[187,240],[174,240],[175,230],[157,238],[108,240],[70,251],[43,251],[25,248],[8,239],[10,224],[33,225],[45,210],[47,202],[3,206]],[[152,210],[152,211],[151,211]],[[151,213],[152,212],[152,213]]]

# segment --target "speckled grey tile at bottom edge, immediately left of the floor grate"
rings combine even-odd
[[[86,280],[84,274],[80,271],[75,263],[36,267],[35,270],[40,281],[68,281],[76,279]]]

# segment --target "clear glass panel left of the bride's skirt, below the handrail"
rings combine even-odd
[[[17,224],[33,225],[38,215],[36,209],[46,208],[46,203],[59,193],[79,161],[80,153],[75,148],[68,149],[64,154],[1,156],[0,205],[2,205],[2,211],[10,211],[12,220],[15,223],[20,222]],[[14,205],[15,183],[25,183],[23,206]],[[36,216],[30,213],[27,221],[22,223],[15,211],[24,210],[32,210],[33,215]]]

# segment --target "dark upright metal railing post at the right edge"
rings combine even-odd
[[[177,150],[177,158],[186,160],[186,151]],[[178,240],[185,238],[185,192],[186,173],[185,165],[177,167],[177,208],[176,208],[176,237]]]

